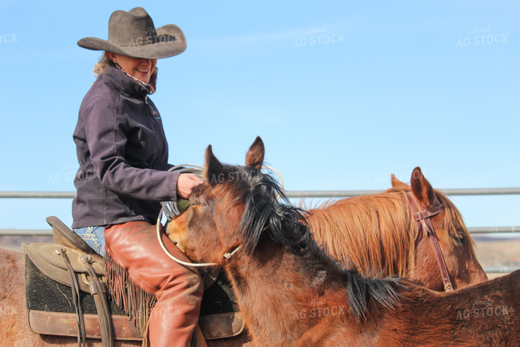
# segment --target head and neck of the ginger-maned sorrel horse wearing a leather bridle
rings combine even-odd
[[[356,266],[369,277],[398,275],[432,290],[443,280],[426,232],[413,218],[413,194],[421,210],[444,206],[431,218],[453,289],[487,280],[474,243],[455,205],[434,190],[420,168],[411,186],[392,175],[393,188],[380,194],[356,196],[309,209],[308,222],[318,244],[345,266]]]

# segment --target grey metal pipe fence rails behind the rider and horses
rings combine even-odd
[[[441,189],[445,195],[508,195],[520,194],[520,188],[476,188],[476,189]],[[377,194],[381,190],[302,190],[286,191],[288,198],[347,198],[367,194]],[[74,198],[76,192],[0,192],[0,198]],[[520,233],[520,227],[469,227],[471,234]],[[51,236],[49,229],[0,229],[0,236]],[[517,266],[486,266],[486,272],[512,272]]]

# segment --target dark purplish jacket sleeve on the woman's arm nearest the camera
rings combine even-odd
[[[125,160],[129,124],[117,107],[108,97],[96,97],[83,105],[79,114],[101,184],[133,198],[177,201],[177,172],[135,168]]]

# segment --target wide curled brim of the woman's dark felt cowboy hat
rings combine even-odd
[[[92,49],[93,51],[107,51],[140,59],[173,57],[185,51],[186,39],[183,31],[177,27],[177,25],[164,25],[157,28],[156,32],[156,42],[150,44],[131,42],[129,46],[121,47],[107,40],[102,40],[101,38],[82,38],[77,44],[79,47]]]

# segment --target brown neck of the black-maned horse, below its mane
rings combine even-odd
[[[302,256],[268,240],[259,244],[252,255],[237,253],[224,270],[250,333],[264,346],[294,341],[309,329],[309,324],[317,323],[317,319],[300,319],[302,313],[308,317],[316,303],[330,305],[340,300],[340,309],[347,309],[346,290],[337,291],[341,292],[341,300],[328,281],[340,274],[327,264],[317,247]]]

